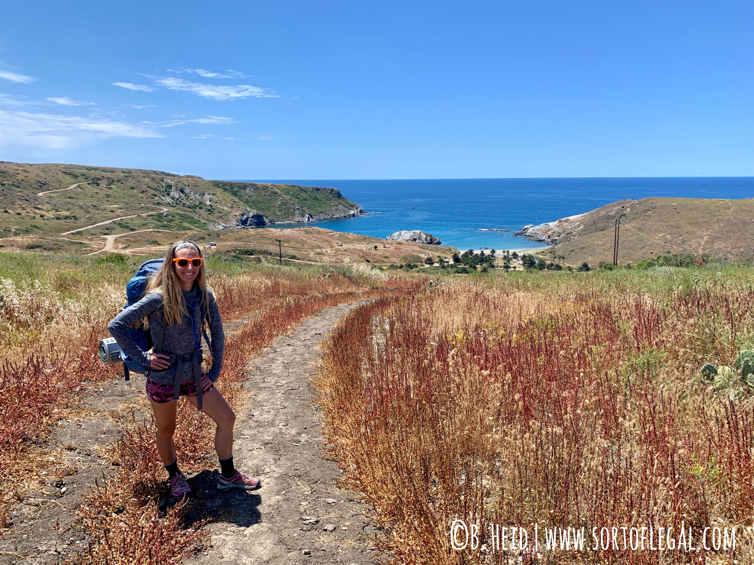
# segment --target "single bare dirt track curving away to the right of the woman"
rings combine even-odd
[[[340,490],[342,475],[326,460],[314,392],[317,345],[354,304],[325,310],[281,337],[251,365],[250,408],[238,414],[234,460],[262,478],[262,488],[225,499],[235,516],[211,525],[210,551],[188,565],[371,563],[378,530],[357,493]],[[189,481],[190,482],[190,481]],[[209,485],[214,489],[213,481]]]

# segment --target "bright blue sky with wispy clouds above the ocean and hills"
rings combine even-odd
[[[12,2],[0,160],[212,179],[754,175],[746,2]]]

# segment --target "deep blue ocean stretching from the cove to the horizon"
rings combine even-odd
[[[624,198],[752,198],[754,177],[608,179],[256,180],[338,188],[372,212],[358,218],[317,221],[334,231],[386,237],[421,230],[458,249],[526,249],[541,246],[513,237],[526,224],[581,214]],[[280,225],[280,228],[289,227]],[[290,227],[301,227],[301,224]],[[507,231],[486,231],[504,229]]]

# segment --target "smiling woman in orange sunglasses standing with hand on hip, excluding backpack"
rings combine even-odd
[[[136,345],[128,333],[128,328],[136,327],[145,317],[155,344],[149,351]],[[205,320],[212,333],[212,368],[208,373],[201,370],[201,334]],[[161,269],[149,281],[143,298],[122,310],[107,328],[122,350],[149,368],[146,394],[155,414],[158,454],[170,475],[173,496],[191,495],[191,487],[178,468],[173,444],[179,396],[188,397],[217,424],[215,450],[221,468],[217,488],[259,488],[259,478],[244,475],[233,466],[235,414],[213,384],[222,368],[225,334],[215,296],[207,286],[199,247],[188,241],[173,243]]]

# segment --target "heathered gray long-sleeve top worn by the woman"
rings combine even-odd
[[[198,289],[196,286],[189,292],[183,292],[183,298],[186,301],[186,309],[189,310],[190,316],[194,318],[194,327],[196,328],[199,339],[201,340],[201,312],[197,301]],[[209,301],[210,311],[210,332],[212,334],[212,368],[207,373],[207,377],[213,382],[220,376],[222,369],[222,352],[225,349],[225,332],[222,331],[222,320],[217,309],[215,295],[207,288],[207,299]],[[193,307],[191,302],[196,302]],[[195,349],[194,330],[192,328],[192,319],[189,314],[184,314],[182,323],[176,325],[164,325],[164,316],[162,308],[162,293],[150,292],[144,298],[130,307],[122,310],[118,316],[107,325],[107,328],[115,337],[115,341],[128,355],[136,362],[145,367],[149,366],[149,355],[143,351],[128,334],[127,328],[133,326],[137,320],[143,319],[144,316],[149,320],[149,332],[152,334],[152,343],[157,342],[157,334],[161,328],[165,328],[163,338],[163,353],[175,353],[176,355],[187,355]],[[165,371],[152,369],[149,371],[149,378],[159,384],[173,384],[176,379],[176,365]],[[187,363],[183,368],[181,377],[182,383],[193,382],[194,369],[191,363]]]

